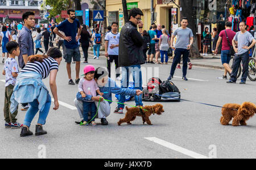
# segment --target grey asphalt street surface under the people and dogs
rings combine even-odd
[[[89,56],[89,64],[94,67],[106,67],[106,59],[93,60]],[[2,60],[1,60],[2,61]],[[80,74],[85,64],[81,63]],[[143,84],[158,71],[160,80],[167,80],[171,65],[144,64]],[[3,64],[0,64],[2,72]],[[188,81],[181,80],[182,71],[176,69],[172,80],[180,89],[181,98],[196,102],[204,102],[222,106],[225,103],[255,102],[256,82],[247,80],[246,85],[226,84],[219,79],[223,71],[203,67],[193,67],[188,71]],[[157,74],[155,75],[157,76]],[[72,77],[75,79],[75,64],[72,64]],[[0,76],[0,108],[3,110],[5,77]],[[238,79],[238,82],[240,79]],[[118,82],[118,81],[117,81]],[[49,89],[49,78],[44,80]],[[119,82],[118,82],[119,83]],[[64,60],[57,73],[57,92],[59,101],[74,105],[77,85],[68,85],[68,76]],[[51,94],[52,96],[52,94]],[[115,99],[113,95],[113,99]],[[127,102],[135,105],[134,101]],[[154,105],[155,102],[144,102]],[[198,103],[163,102],[165,112],[162,115],[151,115],[152,126],[143,125],[137,117],[132,125],[117,125],[125,114],[113,113],[117,103],[112,103],[108,126],[80,126],[77,110],[67,105],[60,105],[49,111],[44,130],[47,135],[19,137],[20,129],[6,129],[1,111],[0,124],[0,158],[38,158],[42,145],[46,158],[255,158],[256,118],[247,121],[247,126],[233,127],[220,124],[221,108]],[[25,112],[18,112],[18,122],[23,123]],[[38,114],[31,123],[30,130],[35,134]],[[231,123],[231,122],[230,122]]]

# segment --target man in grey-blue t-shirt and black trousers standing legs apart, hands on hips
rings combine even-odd
[[[168,80],[171,80],[174,76],[174,72],[177,66],[177,63],[179,63],[181,59],[181,55],[183,55],[183,67],[182,72],[183,76],[182,79],[187,81],[187,68],[188,68],[188,56],[189,56],[189,49],[191,49],[191,45],[193,44],[193,32],[190,28],[187,28],[188,26],[188,19],[182,18],[181,19],[181,27],[177,28],[174,31],[174,34],[172,34],[171,37],[171,48],[175,50],[174,52],[174,60],[172,62],[171,66],[171,72],[170,76],[168,77]],[[175,47],[173,47],[174,44],[174,38],[177,36]]]

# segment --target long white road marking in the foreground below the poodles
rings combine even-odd
[[[162,139],[159,139],[159,138],[149,137],[149,138],[144,138],[144,139],[147,139],[147,140],[150,140],[152,142],[158,143],[158,144],[160,144],[162,146],[170,148],[171,150],[180,152],[181,154],[188,155],[188,156],[191,156],[191,157],[196,158],[196,159],[208,159],[209,158],[207,156],[204,156],[204,155],[201,155],[201,154],[197,154],[196,152],[189,151],[189,150],[187,150],[185,148],[182,148],[182,147],[177,146],[175,144],[166,142],[166,141],[164,141]]]

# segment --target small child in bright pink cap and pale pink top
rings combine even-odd
[[[96,81],[94,80],[94,72],[95,68],[93,65],[86,65],[84,67],[84,77],[81,78],[79,81],[79,92],[82,95],[82,98],[86,97],[86,95],[90,95],[92,97],[97,96],[96,92],[103,96],[104,93],[100,92],[100,88],[98,88],[98,85]],[[92,119],[92,126],[96,126],[96,123],[94,122],[94,116],[96,114],[96,105],[94,101],[82,101],[84,110],[83,110],[83,117],[84,121],[81,123],[81,125],[88,125],[88,111],[90,110],[90,117]]]

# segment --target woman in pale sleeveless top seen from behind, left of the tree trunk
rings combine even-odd
[[[159,49],[160,49],[160,54],[161,54],[161,64],[164,62],[164,55],[166,55],[166,60],[165,64],[168,63],[168,49],[171,46],[170,43],[170,36],[167,35],[167,30],[166,28],[163,29],[162,35],[160,35],[160,40],[159,40]]]

